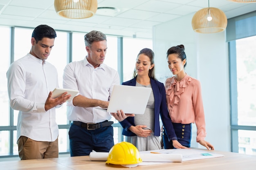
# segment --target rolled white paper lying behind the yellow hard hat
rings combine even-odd
[[[153,154],[153,153],[140,153],[143,162],[181,162],[181,154]],[[91,152],[91,161],[107,161],[108,152]]]

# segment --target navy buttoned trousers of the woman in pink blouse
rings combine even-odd
[[[192,125],[191,124],[177,124],[173,123],[173,128],[180,144],[186,147],[190,147],[191,135],[192,135]],[[164,149],[173,149],[173,141],[168,141],[168,137],[165,134],[165,129],[163,131],[163,142]]]

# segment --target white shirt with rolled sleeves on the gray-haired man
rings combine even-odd
[[[85,57],[84,60],[71,62],[64,69],[63,88],[79,90],[78,95],[90,99],[109,101],[115,84],[120,84],[119,74],[106,64],[94,68]],[[77,107],[73,101],[67,103],[69,106],[67,119],[70,121],[82,121],[84,123],[99,123],[111,119],[108,112],[97,108]]]

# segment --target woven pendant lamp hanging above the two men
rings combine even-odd
[[[90,18],[97,11],[97,0],[54,0],[58,15],[65,18]]]

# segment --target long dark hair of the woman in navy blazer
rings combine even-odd
[[[148,58],[150,60],[150,65],[155,64],[155,59],[154,59],[155,58],[155,53],[154,53],[154,51],[152,51],[151,49],[148,49],[148,48],[142,49],[141,51],[139,51],[139,54],[137,55],[137,57],[141,54],[144,54],[144,55],[148,56]],[[136,77],[136,76],[137,76],[137,72],[136,72],[136,68],[135,68],[135,70],[133,72],[133,77]],[[148,71],[148,76],[150,78],[156,80],[156,78],[155,78],[155,66]]]

